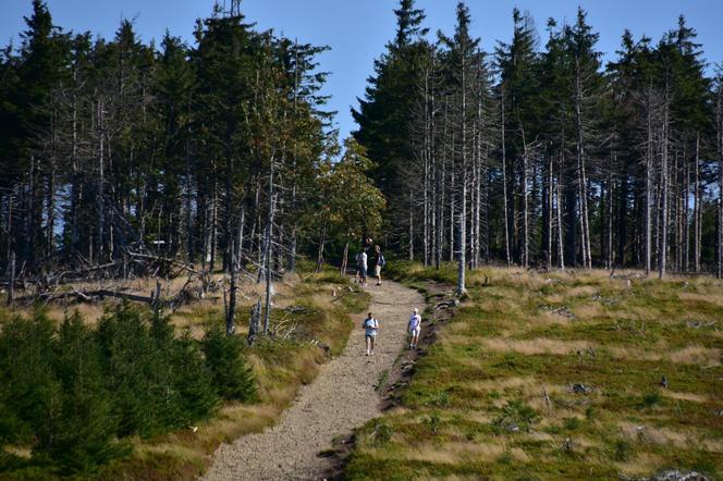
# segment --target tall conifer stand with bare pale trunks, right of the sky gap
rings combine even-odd
[[[723,268],[723,77],[707,76],[683,16],[653,41],[513,12],[485,52],[464,2],[453,36],[428,39],[413,0],[377,61],[354,134],[378,163],[392,242],[464,266]]]

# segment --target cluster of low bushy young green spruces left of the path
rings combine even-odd
[[[189,428],[222,399],[253,400],[243,349],[218,328],[200,342],[176,337],[167,319],[130,306],[97,329],[78,313],[59,326],[42,312],[3,320],[0,443],[30,456],[0,449],[0,477],[93,470],[127,455],[130,436]]]

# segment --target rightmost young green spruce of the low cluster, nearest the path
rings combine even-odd
[[[201,349],[219,396],[242,402],[256,398],[256,382],[244,360],[241,337],[226,335],[220,326],[215,326],[206,332]]]

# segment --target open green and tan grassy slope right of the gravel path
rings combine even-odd
[[[401,270],[413,283],[454,279],[453,267]],[[469,280],[401,404],[356,433],[348,479],[723,476],[720,281]]]

